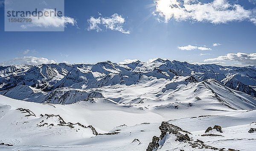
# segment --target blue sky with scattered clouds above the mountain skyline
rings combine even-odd
[[[177,0],[177,5],[173,4],[176,0],[164,1],[166,3],[161,4],[154,0],[65,0],[65,16],[76,20],[77,26],[67,23],[63,32],[4,31],[2,5],[0,64],[97,63],[105,60],[119,63],[129,62],[127,59],[146,62],[160,57],[188,63],[256,65],[256,21],[253,20],[256,1],[201,0],[201,3],[186,4],[189,0]],[[209,12],[207,18],[195,15],[200,14],[195,6],[207,9],[217,2],[229,6]],[[172,8],[177,8],[175,11],[160,6],[170,3]],[[186,7],[194,5],[192,12],[184,9],[185,4]],[[236,12],[235,4],[243,10]],[[229,10],[235,11],[226,17],[222,15]],[[113,14],[124,22],[118,25],[104,23],[106,19],[111,21]],[[88,30],[92,25],[91,17],[100,21],[96,26],[101,31]],[[109,28],[111,25],[113,30]],[[213,46],[213,43],[220,45]]]

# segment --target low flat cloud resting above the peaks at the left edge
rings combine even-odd
[[[57,63],[55,60],[49,60],[44,57],[16,57],[12,60],[1,62],[0,66],[9,66],[16,64],[28,64],[28,65],[40,65],[40,64],[49,64],[49,63]]]

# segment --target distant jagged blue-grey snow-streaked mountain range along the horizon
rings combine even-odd
[[[67,87],[89,89],[116,84],[133,85],[140,82],[143,76],[166,80],[172,80],[175,76],[193,76],[199,82],[215,79],[236,91],[256,96],[253,87],[256,86],[256,69],[253,66],[192,65],[162,59],[151,63],[137,61],[124,65],[106,61],[94,65],[59,63],[39,66],[1,66],[0,91],[8,91],[17,85],[31,86],[44,92]],[[16,98],[15,95],[9,97]]]

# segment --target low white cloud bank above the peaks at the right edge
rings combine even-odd
[[[252,54],[246,54],[241,52],[238,52],[236,54],[230,53],[224,56],[218,56],[216,58],[206,59],[204,60],[204,62],[225,61],[225,60],[237,61],[241,64],[246,64],[246,65],[256,65],[256,53],[252,53]]]

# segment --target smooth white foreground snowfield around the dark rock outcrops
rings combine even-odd
[[[127,105],[102,98],[70,105],[51,105],[0,96],[0,104],[0,143],[13,145],[0,145],[0,150],[20,151],[145,151],[152,137],[160,135],[158,127],[161,122],[177,112],[177,109],[169,108],[169,111],[162,111],[164,115],[160,115],[153,108],[148,111],[133,106],[128,108]],[[180,114],[180,118],[177,118],[177,114],[169,123],[189,131],[193,140],[199,139],[207,145],[241,151],[250,151],[256,147],[256,133],[248,133],[250,128],[256,128],[255,123],[252,123],[256,121],[255,110],[180,110],[190,114]],[[192,114],[197,116],[189,116]],[[199,116],[201,114],[207,116]],[[213,125],[222,126],[223,137],[200,136],[208,126]],[[218,134],[214,131],[210,133]],[[168,137],[159,148],[167,149],[205,150],[192,148],[187,142],[177,142],[173,137]]]

